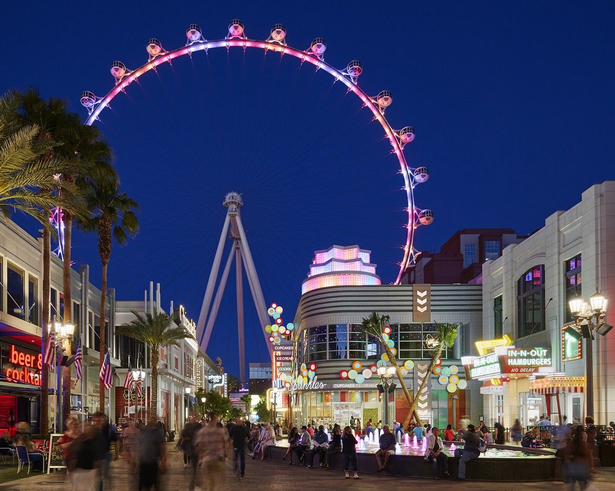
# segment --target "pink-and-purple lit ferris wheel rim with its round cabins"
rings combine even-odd
[[[287,44],[287,31],[282,24],[276,24],[271,28],[269,37],[264,41],[250,39],[245,34],[244,23],[239,19],[233,19],[228,26],[228,34],[224,39],[208,41],[204,38],[202,30],[196,24],[191,24],[186,29],[186,44],[177,49],[164,49],[161,41],[151,38],[146,43],[148,59],[143,65],[136,69],[129,69],[122,61],[114,61],[111,64],[111,75],[114,79],[114,86],[105,96],[98,97],[95,93],[85,91],[81,95],[81,104],[87,109],[88,117],[85,124],[93,124],[105,108],[111,106],[111,102],[116,96],[125,93],[127,87],[132,82],[151,71],[156,72],[157,68],[164,63],[172,63],[175,58],[193,53],[205,52],[214,48],[230,50],[231,48],[260,49],[264,52],[277,52],[280,55],[290,55],[297,58],[303,65],[304,62],[311,63],[317,70],[328,73],[335,82],[346,85],[347,93],[353,93],[362,101],[363,107],[369,109],[373,115],[373,120],[378,121],[384,130],[384,135],[391,144],[392,153],[399,161],[400,174],[403,177],[403,191],[407,197],[407,227],[406,241],[403,246],[403,255],[399,261],[399,272],[394,281],[400,283],[403,272],[408,266],[413,265],[416,253],[414,247],[415,230],[419,226],[429,225],[434,220],[434,213],[429,209],[418,208],[415,204],[414,189],[417,184],[425,183],[429,178],[429,170],[426,167],[410,167],[404,154],[405,146],[415,139],[415,130],[410,127],[402,127],[395,130],[385,117],[385,112],[391,106],[393,97],[389,90],[381,90],[376,95],[369,95],[368,92],[359,87],[358,81],[363,73],[363,66],[359,60],[350,61],[343,69],[335,68],[324,59],[327,44],[322,37],[316,37],[309,45],[308,49],[301,50],[290,47]]]

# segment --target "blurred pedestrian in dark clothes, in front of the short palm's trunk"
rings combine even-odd
[[[152,487],[156,491],[161,489],[159,476],[167,471],[167,449],[162,431],[164,430],[151,420],[141,429],[138,491],[148,491]]]

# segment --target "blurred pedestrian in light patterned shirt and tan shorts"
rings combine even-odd
[[[207,425],[200,429],[196,436],[199,446],[199,462],[204,473],[202,482],[207,485],[207,491],[216,491],[218,484],[224,489],[226,481],[226,444],[224,430],[218,426],[218,418],[213,412],[208,414]]]

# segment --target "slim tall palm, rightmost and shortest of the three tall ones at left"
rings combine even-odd
[[[129,237],[134,237],[139,229],[137,215],[133,210],[138,209],[137,202],[130,199],[125,193],[119,192],[117,187],[108,183],[93,183],[86,191],[85,201],[93,216],[85,221],[77,221],[77,227],[85,232],[98,233],[98,254],[103,265],[100,292],[100,366],[105,361],[106,353],[106,326],[105,326],[105,299],[107,292],[107,268],[111,257],[113,240],[118,245],[124,245]],[[99,410],[105,407],[105,387],[100,386]]]

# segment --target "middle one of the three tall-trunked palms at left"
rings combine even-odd
[[[79,160],[81,167],[74,173],[63,173],[62,181],[71,184],[79,189],[85,189],[92,183],[108,183],[116,185],[117,171],[111,164],[113,153],[111,147],[102,137],[100,130],[95,126],[82,124],[81,117],[74,112],[65,112],[63,120],[58,123],[55,135],[62,141],[62,147],[58,150],[66,156],[71,156]],[[71,210],[63,210],[64,220],[64,257],[62,265],[62,285],[64,290],[64,312],[63,320],[65,323],[71,321],[72,305],[71,298],[71,246],[73,242],[73,221],[74,214]],[[104,316],[101,323],[105,321]],[[101,351],[102,353],[102,351]],[[69,347],[66,355],[72,355]],[[104,355],[101,355],[104,359]],[[102,362],[100,362],[102,367]],[[63,367],[62,373],[62,414],[70,412],[70,391],[71,367]]]

